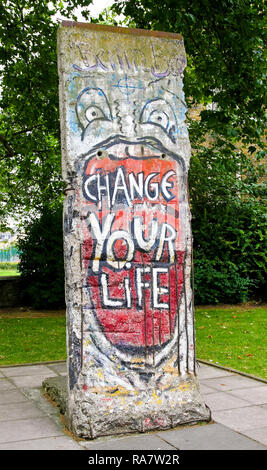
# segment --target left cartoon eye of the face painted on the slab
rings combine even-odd
[[[85,88],[77,98],[76,115],[82,128],[82,140],[85,131],[94,121],[112,121],[110,105],[103,90]]]

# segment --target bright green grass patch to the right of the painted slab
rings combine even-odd
[[[267,379],[267,308],[197,308],[197,358]]]

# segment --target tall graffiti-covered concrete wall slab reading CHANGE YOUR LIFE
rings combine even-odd
[[[58,59],[69,426],[95,438],[207,421],[182,37],[63,22]]]

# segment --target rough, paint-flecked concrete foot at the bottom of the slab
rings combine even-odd
[[[138,396],[118,392],[112,398],[88,394],[90,406],[88,403],[84,407],[80,406],[77,399],[77,402],[72,403],[71,417],[68,416],[66,377],[48,377],[43,382],[43,390],[56,402],[61,413],[66,413],[69,429],[85,439],[171,429],[180,424],[195,424],[211,419],[210,410],[203,403],[192,377],[179,379],[176,387],[160,396],[151,390]]]

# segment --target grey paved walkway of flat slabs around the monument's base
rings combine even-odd
[[[267,450],[266,383],[201,364],[213,423],[75,441],[42,395],[42,381],[57,375],[65,363],[0,368],[0,450]]]

